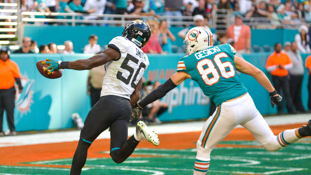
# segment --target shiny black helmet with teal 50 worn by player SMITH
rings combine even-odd
[[[144,20],[134,20],[124,27],[122,36],[131,40],[139,48],[144,47],[150,39],[151,30],[149,24]]]

